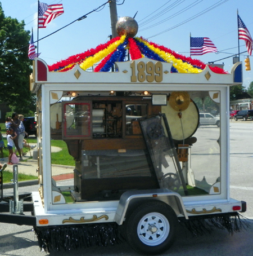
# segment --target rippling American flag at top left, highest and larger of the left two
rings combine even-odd
[[[62,5],[47,5],[39,2],[38,27],[46,28],[46,25],[64,13]]]

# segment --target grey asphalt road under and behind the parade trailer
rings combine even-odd
[[[201,127],[205,133],[211,133],[215,126]],[[184,227],[179,227],[177,240],[164,254],[170,256],[208,255],[233,256],[252,255],[253,251],[253,122],[231,122],[231,197],[247,202],[247,211],[242,215],[250,218],[251,228],[242,228],[241,232],[229,235],[227,231],[215,229],[213,233],[194,237]],[[36,186],[22,187],[19,193],[36,190]],[[4,194],[12,193],[11,189],[4,189]],[[245,220],[243,220],[243,223]],[[0,255],[138,255],[126,242],[108,247],[93,247],[74,251],[56,251],[53,253],[40,252],[37,238],[29,226],[17,226],[1,223],[0,226]]]

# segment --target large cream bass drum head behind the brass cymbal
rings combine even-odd
[[[198,129],[200,114],[198,113],[197,105],[192,100],[190,101],[188,108],[182,112],[175,110],[170,104],[162,106],[161,111],[166,114],[170,132],[174,140],[191,138]]]

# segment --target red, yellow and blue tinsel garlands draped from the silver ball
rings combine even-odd
[[[94,49],[92,48],[81,54],[70,56],[65,60],[49,65],[49,71],[67,71],[74,68],[76,64],[79,64],[80,68],[86,70],[97,64],[94,72],[108,72],[116,61],[125,61],[127,49],[129,49],[132,60],[146,57],[157,61],[173,63],[171,68],[173,73],[200,73],[206,67],[206,64],[200,60],[177,54],[169,48],[149,42],[142,37],[132,38],[124,35],[115,37]],[[210,67],[210,69],[215,73],[228,73],[218,67]]]

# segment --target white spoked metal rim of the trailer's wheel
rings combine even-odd
[[[142,217],[137,227],[139,240],[149,246],[160,245],[169,235],[168,219],[160,213],[148,213]]]

